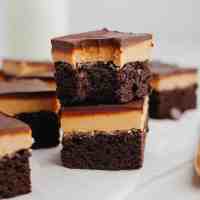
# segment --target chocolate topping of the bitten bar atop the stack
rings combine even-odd
[[[147,33],[134,34],[102,29],[54,38],[51,42],[53,49],[66,50],[101,45],[127,46],[151,39],[152,35]]]

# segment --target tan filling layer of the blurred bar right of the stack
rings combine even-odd
[[[151,81],[151,86],[156,91],[168,91],[174,89],[184,89],[197,84],[197,82],[198,75],[196,73],[175,74],[153,79]]]

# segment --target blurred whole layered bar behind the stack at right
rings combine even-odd
[[[150,117],[178,119],[184,111],[196,108],[196,68],[180,68],[155,61],[151,71]]]

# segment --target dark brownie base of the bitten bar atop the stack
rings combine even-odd
[[[55,63],[57,95],[62,106],[115,104],[141,99],[149,93],[148,62],[127,63],[117,69],[112,62]]]

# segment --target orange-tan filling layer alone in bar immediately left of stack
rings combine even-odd
[[[11,116],[41,110],[58,112],[59,108],[60,105],[56,97],[0,97],[0,111]]]

